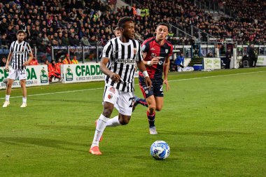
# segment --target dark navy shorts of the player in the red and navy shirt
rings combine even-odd
[[[152,87],[151,90],[148,90],[148,87],[145,83],[145,78],[142,76],[139,76],[139,87],[141,88],[141,92],[144,95],[144,98],[148,98],[151,95],[154,95],[154,97],[164,97],[164,90],[162,89],[162,78],[159,79],[151,79]]]

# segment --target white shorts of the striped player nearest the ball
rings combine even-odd
[[[113,104],[120,114],[132,115],[133,97],[133,92],[123,92],[111,85],[105,86],[104,101]]]

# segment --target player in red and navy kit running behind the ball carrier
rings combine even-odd
[[[151,78],[153,87],[148,90],[144,84],[143,73],[139,72],[139,87],[144,95],[144,99],[134,96],[134,108],[137,104],[147,106],[147,117],[149,122],[150,134],[158,134],[155,128],[155,111],[161,111],[164,103],[163,84],[166,90],[169,90],[167,79],[169,71],[169,57],[173,52],[173,45],[165,38],[168,34],[169,27],[166,23],[158,24],[156,28],[156,36],[146,39],[142,44],[144,55],[144,64],[146,65],[148,75]],[[162,73],[164,78],[162,79]]]

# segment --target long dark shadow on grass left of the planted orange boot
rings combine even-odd
[[[43,146],[48,148],[57,148],[62,150],[71,150],[87,153],[87,150],[79,150],[78,148],[70,148],[69,146],[84,146],[90,148],[89,143],[73,143],[68,141],[60,141],[54,139],[26,138],[26,137],[0,137],[0,143],[12,144],[16,146]]]

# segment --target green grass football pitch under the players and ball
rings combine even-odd
[[[266,175],[266,67],[170,73],[169,80],[156,113],[159,134],[148,134],[146,108],[137,106],[129,125],[106,128],[102,156],[88,150],[103,82],[28,87],[27,108],[14,89],[10,106],[0,108],[0,176]],[[167,160],[149,154],[156,140],[169,144]]]

